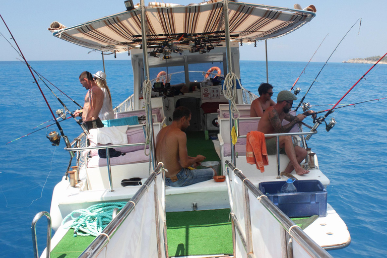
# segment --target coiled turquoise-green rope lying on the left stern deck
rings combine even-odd
[[[121,210],[125,204],[126,202],[101,203],[73,211],[63,219],[62,226],[74,228],[74,237],[97,236],[112,220],[114,208]],[[66,223],[69,219],[71,224]]]

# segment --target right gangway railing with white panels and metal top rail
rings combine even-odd
[[[234,257],[332,257],[256,188],[242,171],[229,161],[225,162],[225,167],[229,197],[238,200],[230,200]],[[233,176],[232,192],[230,176]]]

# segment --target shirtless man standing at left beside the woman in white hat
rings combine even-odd
[[[82,120],[87,131],[92,128],[103,127],[103,123],[98,117],[103,104],[103,91],[95,84],[93,76],[89,72],[83,72],[79,76],[79,81],[82,86],[85,87],[87,93],[83,109],[76,110],[74,115],[79,116],[79,114],[82,113]]]

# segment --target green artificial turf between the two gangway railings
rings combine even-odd
[[[169,256],[232,254],[230,209],[167,212]]]

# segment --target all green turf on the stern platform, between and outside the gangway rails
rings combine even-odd
[[[229,213],[230,209],[167,212],[169,257],[232,255],[232,226]],[[315,219],[316,216],[292,220],[304,229]],[[74,237],[73,229],[63,231],[61,228],[60,231],[63,237],[51,251],[53,258],[76,258],[95,239],[94,236]]]

